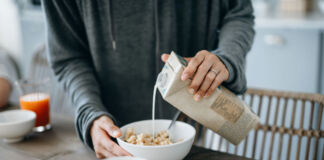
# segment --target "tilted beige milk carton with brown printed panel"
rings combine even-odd
[[[239,144],[259,122],[258,116],[222,86],[210,97],[194,101],[193,95],[188,92],[190,80],[181,80],[186,66],[185,59],[171,52],[157,79],[163,99],[232,144]]]

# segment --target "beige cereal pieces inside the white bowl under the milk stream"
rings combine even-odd
[[[169,137],[169,134],[166,131],[157,133],[153,138],[152,135],[148,133],[136,134],[134,128],[127,129],[126,135],[123,140],[128,143],[144,146],[173,144],[171,138]]]

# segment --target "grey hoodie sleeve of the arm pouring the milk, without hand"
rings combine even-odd
[[[218,49],[212,51],[225,64],[229,78],[224,85],[236,94],[246,91],[245,57],[254,38],[254,16],[250,0],[224,0]]]

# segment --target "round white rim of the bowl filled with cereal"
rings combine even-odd
[[[161,120],[162,121],[172,121],[170,119],[155,119],[155,121],[161,121]],[[152,120],[151,119],[147,119],[147,120],[135,121],[135,122],[132,122],[132,123],[128,123],[126,125],[123,125],[120,128],[126,127],[127,125],[130,125],[130,124],[133,124],[133,123],[144,122],[144,121],[152,121]],[[123,144],[129,145],[129,146],[133,146],[133,147],[139,147],[139,148],[168,148],[168,147],[171,147],[171,146],[181,145],[181,144],[183,144],[185,142],[188,142],[188,141],[190,141],[190,140],[192,140],[192,139],[195,138],[197,131],[196,131],[196,129],[193,126],[191,126],[188,123],[182,122],[182,121],[176,121],[176,123],[180,123],[180,124],[186,125],[189,128],[191,128],[194,131],[193,136],[191,138],[185,139],[185,140],[180,141],[180,142],[177,142],[177,143],[167,144],[167,145],[159,145],[159,146],[144,146],[144,145],[136,145],[136,144],[128,143],[128,142],[125,142],[124,140],[121,139],[123,136],[118,137],[117,140],[118,140],[118,143],[121,142]]]

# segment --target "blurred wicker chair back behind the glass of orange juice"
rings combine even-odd
[[[73,108],[68,100],[66,92],[63,91],[62,86],[57,82],[51,70],[47,57],[45,44],[41,45],[34,52],[31,62],[28,65],[27,79],[49,79],[50,96],[51,96],[51,111],[58,113],[66,113],[73,116]]]

